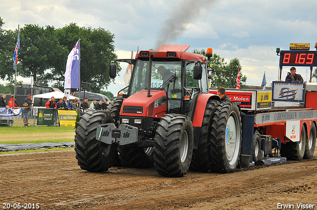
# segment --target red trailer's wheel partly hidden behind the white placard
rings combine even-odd
[[[302,126],[300,141],[288,142],[281,145],[281,156],[288,160],[301,161],[304,158],[305,147],[307,142],[305,126]]]

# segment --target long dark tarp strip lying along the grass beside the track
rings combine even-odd
[[[39,144],[0,144],[0,152],[5,151],[19,151],[27,149],[51,149],[56,147],[70,148],[75,147],[75,142],[58,142],[58,143],[39,143]]]

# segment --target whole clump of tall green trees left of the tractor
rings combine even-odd
[[[13,81],[13,50],[17,30],[5,31],[0,18],[0,78]],[[37,83],[53,83],[63,90],[67,55],[80,38],[81,84],[91,84],[91,91],[100,92],[110,81],[109,60],[117,58],[114,53],[114,35],[109,31],[91,27],[78,27],[71,23],[60,29],[53,26],[25,25],[20,30],[20,50],[17,75],[33,77]],[[121,70],[117,64],[117,73]],[[13,79],[12,79],[13,78]]]

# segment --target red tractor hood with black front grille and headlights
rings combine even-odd
[[[148,90],[134,93],[122,103],[120,116],[139,116],[160,118],[166,114],[165,90],[151,90],[151,97],[147,97]]]

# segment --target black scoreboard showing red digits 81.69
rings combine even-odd
[[[316,51],[281,51],[280,66],[317,66]]]

